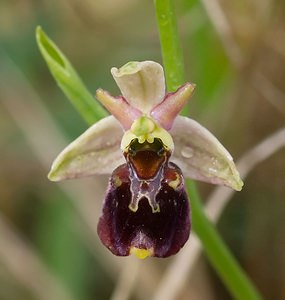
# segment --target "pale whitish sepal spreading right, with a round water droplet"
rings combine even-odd
[[[179,116],[170,133],[175,145],[171,160],[186,177],[226,185],[237,191],[242,189],[243,182],[233,158],[205,127]]]

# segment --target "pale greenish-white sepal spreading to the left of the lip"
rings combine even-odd
[[[48,178],[52,181],[111,174],[124,162],[120,150],[123,136],[120,123],[106,117],[68,145],[55,159]]]

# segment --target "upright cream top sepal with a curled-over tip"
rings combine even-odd
[[[153,61],[132,61],[111,73],[124,98],[143,113],[160,103],[165,96],[163,68]]]

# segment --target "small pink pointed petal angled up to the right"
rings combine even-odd
[[[163,101],[152,109],[150,115],[164,129],[170,130],[175,118],[192,96],[195,86],[195,84],[187,82],[175,92],[168,93]]]

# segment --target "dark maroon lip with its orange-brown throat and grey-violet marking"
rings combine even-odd
[[[170,152],[160,139],[134,139],[124,155],[126,163],[110,178],[99,220],[102,243],[118,256],[134,249],[156,257],[177,253],[191,227],[181,170],[169,162]]]

